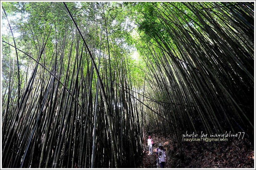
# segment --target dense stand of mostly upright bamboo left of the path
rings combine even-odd
[[[113,42],[111,46],[107,33],[103,30],[100,33],[101,28],[108,29],[111,26],[107,22],[108,18],[104,21],[104,14],[101,13],[103,5],[106,8],[108,4],[82,4],[84,9],[90,10],[89,14],[94,15],[86,23],[76,16],[74,21],[78,23],[79,30],[70,18],[79,10],[75,3],[67,3],[71,16],[67,15],[68,11],[60,3],[20,5],[32,6],[34,9],[35,5],[41,5],[44,9],[54,8],[61,17],[48,16],[49,19],[53,17],[55,22],[52,24],[52,21],[48,21],[43,28],[31,26],[30,32],[23,35],[32,44],[29,49],[23,50],[20,44],[17,45],[19,55],[31,57],[30,60],[34,58],[38,62],[31,63],[30,70],[33,68],[34,71],[28,75],[30,79],[25,79],[25,76],[21,78],[25,82],[21,86],[23,89],[20,90],[21,102],[18,108],[17,91],[10,92],[11,97],[8,97],[8,91],[3,96],[6,101],[3,102],[3,110],[6,108],[4,113],[7,113],[4,120],[6,130],[3,131],[3,154],[6,155],[3,167],[135,167],[140,159],[137,153],[141,153],[142,144],[140,126],[137,126],[138,114],[134,111],[137,106],[119,84],[126,81],[125,85],[129,88],[133,85],[131,81],[122,79],[127,77],[124,68],[126,63],[118,65],[119,59],[112,56],[114,48],[121,50],[120,47]],[[64,30],[60,31],[62,28]],[[107,42],[109,45],[106,45]],[[6,43],[3,45],[15,50]],[[100,50],[106,48],[109,48],[109,52]],[[12,57],[11,52],[6,55]],[[96,63],[102,63],[96,67],[102,67],[98,71],[99,75],[95,73],[90,55]],[[125,55],[116,57],[125,61]],[[9,60],[10,68],[11,64]],[[114,75],[110,74],[113,69]],[[10,80],[11,75],[13,73],[9,70]],[[99,92],[106,91],[106,100],[102,95],[97,97],[98,80],[102,82]],[[13,81],[17,81],[16,76]],[[7,100],[9,107],[6,107]],[[124,105],[123,102],[129,102],[125,109],[120,107]],[[19,110],[17,114],[16,109]],[[108,115],[106,109],[111,109]]]

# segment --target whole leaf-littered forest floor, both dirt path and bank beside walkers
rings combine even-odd
[[[199,142],[183,142],[182,151],[178,148],[174,152],[170,139],[157,135],[151,137],[155,143],[153,155],[149,155],[146,142],[143,162],[138,168],[157,168],[155,154],[159,143],[166,149],[166,168],[254,168],[254,149],[247,139],[201,145]]]

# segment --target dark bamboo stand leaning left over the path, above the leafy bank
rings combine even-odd
[[[144,47],[145,61],[151,54],[147,77],[154,81],[148,84],[148,96],[161,102],[159,113],[174,122],[167,131],[178,137],[183,133],[179,129],[210,134],[244,131],[252,139],[253,4],[137,6],[144,17],[137,20],[144,41],[136,43],[137,48]],[[149,131],[166,125],[154,116],[147,120]]]

